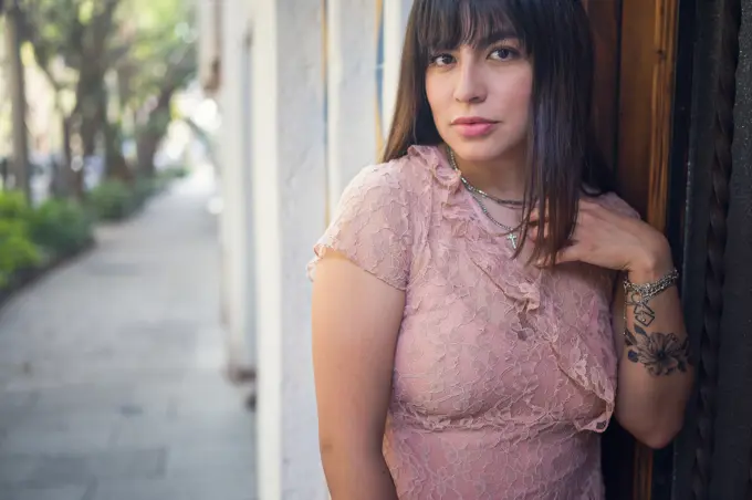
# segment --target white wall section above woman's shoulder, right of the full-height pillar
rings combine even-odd
[[[349,180],[377,157],[377,0],[328,0],[327,175],[334,211]]]

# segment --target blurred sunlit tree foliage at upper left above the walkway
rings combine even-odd
[[[124,136],[158,144],[170,101],[197,71],[194,0],[18,0],[24,37],[85,150],[105,131],[107,156]],[[114,75],[117,85],[105,80]],[[113,95],[117,92],[117,95]],[[116,98],[115,98],[116,97]],[[123,124],[127,114],[137,123]],[[149,165],[154,153],[139,147]]]

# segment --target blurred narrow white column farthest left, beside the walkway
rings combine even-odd
[[[249,72],[248,15],[241,2],[222,2],[222,58],[219,137],[222,194],[222,310],[228,335],[228,364],[232,374],[253,367],[255,338],[252,277],[253,226],[251,218],[250,137],[246,97]]]

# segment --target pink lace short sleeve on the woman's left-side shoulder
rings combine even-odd
[[[314,246],[307,265],[311,280],[318,261],[334,250],[387,284],[407,288],[412,238],[409,194],[400,174],[393,164],[366,167],[347,185]]]

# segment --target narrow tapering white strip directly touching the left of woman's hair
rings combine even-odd
[[[384,105],[382,108],[384,137],[389,133],[395,112],[399,63],[411,7],[412,0],[384,0]]]

